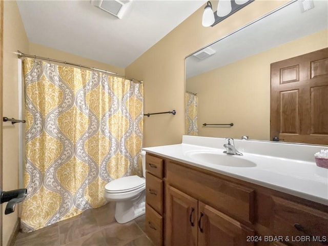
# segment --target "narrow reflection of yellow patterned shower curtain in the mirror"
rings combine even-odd
[[[186,135],[198,135],[197,128],[198,96],[195,93],[186,92]]]

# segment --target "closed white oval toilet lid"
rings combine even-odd
[[[140,178],[139,176],[127,176],[109,182],[105,186],[105,189],[110,193],[122,193],[139,189],[140,187],[145,186],[145,183],[145,179]]]

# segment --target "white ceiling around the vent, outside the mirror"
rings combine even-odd
[[[120,68],[129,66],[204,3],[133,0],[118,19],[90,1],[17,1],[30,42]]]

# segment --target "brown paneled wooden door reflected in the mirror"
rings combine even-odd
[[[271,64],[274,137],[328,145],[328,48]]]

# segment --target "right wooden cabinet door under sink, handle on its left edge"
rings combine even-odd
[[[240,222],[198,202],[198,245],[210,246],[240,246],[254,245],[248,242],[248,236],[254,236],[254,231]]]

